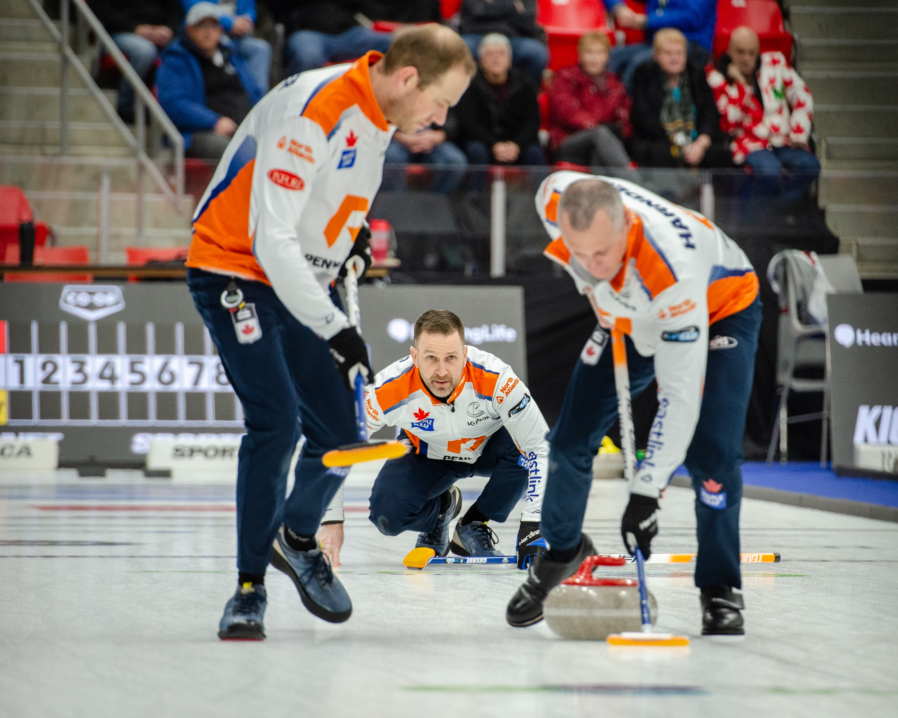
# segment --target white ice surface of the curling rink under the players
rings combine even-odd
[[[236,578],[233,486],[0,475],[0,715],[895,714],[898,524],[746,500],[743,550],[782,562],[743,565],[744,640],[700,636],[688,565],[648,565],[656,630],[691,646],[612,650],[507,626],[515,568],[405,569],[415,536],[367,520],[372,479],[354,469],[346,490],[353,616],[313,617],[272,570],[255,644],[216,638]],[[467,506],[482,481],[461,486]],[[625,497],[622,481],[594,483],[585,530],[600,551],[621,552]],[[653,549],[695,550],[692,504],[667,489]],[[500,548],[517,520],[494,527]]]

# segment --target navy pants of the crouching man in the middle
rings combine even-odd
[[[505,521],[524,495],[528,469],[503,427],[489,437],[473,464],[427,459],[416,453],[387,461],[371,491],[371,521],[381,533],[431,531],[440,513],[439,495],[460,478],[489,477],[477,507],[490,521]]]

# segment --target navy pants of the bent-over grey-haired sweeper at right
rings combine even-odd
[[[739,573],[739,506],[742,503],[742,441],[761,328],[761,301],[715,322],[709,337],[705,390],[686,468],[695,489],[699,556],[695,585],[742,587]],[[627,364],[632,396],[655,376],[655,360],[639,355],[629,337]],[[609,342],[610,345],[610,342]],[[558,423],[549,433],[549,477],[542,502],[542,535],[550,547],[577,546],[593,483],[593,457],[617,421],[617,390],[611,346],[598,363],[577,362]],[[722,485],[722,486],[720,486]]]

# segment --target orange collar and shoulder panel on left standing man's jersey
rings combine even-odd
[[[353,105],[358,105],[374,125],[384,131],[388,130],[390,127],[383,117],[380,105],[374,99],[371,76],[368,74],[368,67],[374,65],[381,57],[383,55],[374,50],[359,57],[345,74],[325,85],[306,104],[303,117],[321,125],[324,134],[330,138],[330,133],[337,127],[340,115]]]

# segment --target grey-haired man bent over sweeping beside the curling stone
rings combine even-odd
[[[561,171],[537,211],[545,254],[590,296],[600,326],[586,343],[550,436],[541,530],[550,550],[508,606],[529,626],[542,600],[593,552],[581,533],[592,459],[617,417],[606,328],[623,328],[633,395],[656,379],[658,411],[621,521],[629,553],[649,556],[658,499],[685,463],[695,488],[702,633],[742,634],[739,506],[742,441],[761,327],[758,277],[705,217],[632,182]]]

